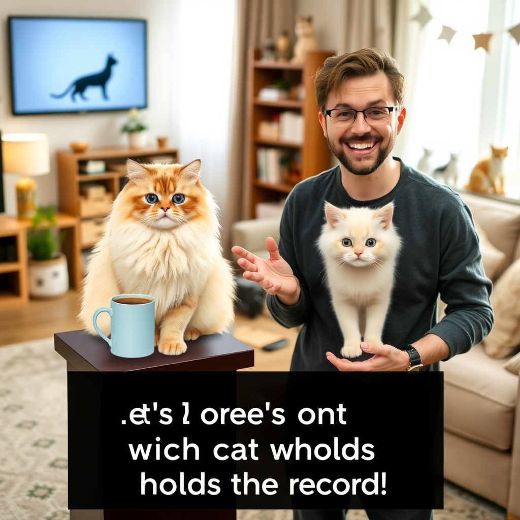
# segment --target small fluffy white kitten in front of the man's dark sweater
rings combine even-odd
[[[340,209],[325,203],[326,224],[318,240],[332,307],[343,333],[341,355],[361,354],[361,341],[382,345],[401,239],[392,224],[394,204],[378,210]],[[360,318],[365,315],[365,330]]]

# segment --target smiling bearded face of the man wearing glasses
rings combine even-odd
[[[368,107],[395,106],[392,87],[381,72],[372,76],[345,80],[337,94],[330,94],[326,110],[351,108],[364,110]],[[328,116],[319,113],[323,134],[329,148],[340,163],[355,175],[369,175],[383,164],[394,148],[395,138],[400,133],[406,110],[392,112],[387,123],[371,126],[356,114],[354,123],[347,127],[332,124]]]

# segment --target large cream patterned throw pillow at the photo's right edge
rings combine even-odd
[[[511,356],[520,345],[520,259],[495,283],[491,305],[495,324],[483,342],[486,354],[494,358]]]

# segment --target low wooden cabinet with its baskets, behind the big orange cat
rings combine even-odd
[[[141,163],[178,161],[175,148],[102,148],[81,153],[59,151],[57,155],[59,207],[80,219],[80,250],[91,248],[100,238],[111,200],[124,186],[127,159]],[[97,161],[104,163],[104,171],[82,173]]]

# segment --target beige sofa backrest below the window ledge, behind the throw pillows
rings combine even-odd
[[[489,241],[505,253],[505,262],[498,275],[508,267],[520,251],[520,205],[482,197],[473,193],[460,193],[462,200],[469,206],[473,219],[486,231]]]

